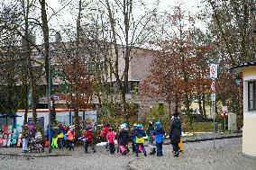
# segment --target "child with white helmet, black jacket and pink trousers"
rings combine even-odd
[[[128,140],[129,140],[129,134],[128,134],[128,130],[126,129],[126,126],[124,124],[122,124],[120,128],[121,128],[121,130],[118,135],[118,145],[119,145],[121,154],[123,156],[125,156],[126,155],[126,146],[128,145]]]

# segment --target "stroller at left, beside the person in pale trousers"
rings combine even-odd
[[[41,132],[37,132],[34,138],[29,138],[28,152],[32,152],[32,150],[36,150],[38,153],[44,152]]]

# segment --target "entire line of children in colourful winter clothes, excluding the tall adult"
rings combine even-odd
[[[51,128],[50,138],[51,138],[51,147],[63,149],[65,147],[69,150],[74,149],[74,139],[76,132],[74,126],[65,126],[59,123],[56,128]],[[26,129],[24,129],[26,130]],[[29,133],[25,133],[27,135]],[[111,154],[114,154],[114,140],[117,140],[118,150],[120,153],[125,156],[129,152],[128,143],[132,140],[133,152],[135,152],[135,157],[139,157],[139,153],[143,153],[147,157],[147,152],[144,148],[144,143],[146,136],[148,137],[148,146],[151,149],[150,155],[157,153],[158,157],[163,156],[162,154],[162,144],[164,142],[165,131],[162,129],[160,121],[157,121],[153,124],[152,121],[149,122],[149,127],[146,131],[142,130],[142,124],[134,124],[131,134],[129,134],[129,127],[126,123],[123,123],[120,126],[120,130],[114,131],[109,124],[105,124],[104,130],[101,131],[102,137],[107,140],[106,148],[109,146],[109,151]],[[27,137],[24,136],[24,139]],[[49,141],[49,130],[46,130],[46,139]],[[90,125],[87,125],[86,129],[83,132],[82,137],[78,140],[84,141],[84,152],[88,153],[88,147],[93,150],[93,153],[96,152],[93,144],[93,130]],[[24,141],[24,145],[27,145]],[[155,147],[156,146],[156,147]],[[23,152],[26,152],[25,147]]]

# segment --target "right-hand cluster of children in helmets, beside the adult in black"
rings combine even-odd
[[[134,124],[132,134],[129,135],[129,128],[126,123],[123,123],[120,126],[120,130],[114,132],[112,128],[109,128],[109,125],[105,126],[105,129],[102,130],[102,136],[106,138],[107,145],[111,154],[114,154],[114,139],[117,139],[118,149],[121,154],[125,156],[129,152],[128,143],[129,140],[132,140],[133,152],[135,152],[135,157],[139,157],[139,153],[143,153],[144,156],[147,156],[147,152],[144,148],[145,137],[148,136],[148,144],[151,148],[150,155],[157,153],[158,157],[161,157],[162,154],[162,144],[164,140],[165,131],[162,129],[160,121],[157,121],[153,124],[151,121],[149,123],[149,128],[147,133],[142,130],[142,124]],[[156,148],[153,144],[156,144]],[[157,152],[156,152],[157,150]]]

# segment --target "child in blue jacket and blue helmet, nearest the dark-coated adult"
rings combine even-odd
[[[164,139],[164,130],[161,128],[160,121],[157,121],[155,123],[155,131],[154,131],[154,136],[155,136],[155,142],[157,146],[157,156],[161,157],[162,156],[162,144],[163,144],[163,139]]]

